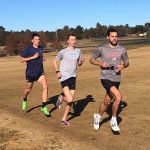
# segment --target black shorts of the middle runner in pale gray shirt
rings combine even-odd
[[[70,90],[75,90],[76,89],[76,78],[71,77],[65,81],[62,81],[61,86],[62,86],[62,88],[64,88],[65,86],[68,86]]]

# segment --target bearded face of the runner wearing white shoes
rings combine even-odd
[[[117,42],[118,42],[118,34],[117,34],[117,32],[110,32],[110,35],[107,36],[107,39],[109,40],[111,45],[116,46]]]

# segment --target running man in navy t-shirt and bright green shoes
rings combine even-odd
[[[41,111],[45,115],[50,115],[46,107],[48,96],[48,85],[43,69],[43,48],[40,46],[40,36],[38,34],[32,35],[32,45],[29,45],[21,54],[21,63],[26,62],[26,87],[22,100],[22,110],[27,109],[27,96],[31,92],[33,83],[38,81],[43,87],[42,93],[42,107]]]

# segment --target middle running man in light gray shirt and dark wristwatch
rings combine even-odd
[[[70,125],[67,121],[67,115],[71,109],[75,96],[77,65],[81,66],[84,62],[81,50],[76,48],[77,39],[74,34],[68,35],[67,43],[67,48],[62,49],[53,61],[56,76],[63,90],[63,93],[58,97],[56,105],[60,108],[63,101],[67,103],[62,117],[63,125]],[[60,61],[60,65],[58,65],[58,61]]]

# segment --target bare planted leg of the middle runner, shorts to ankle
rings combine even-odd
[[[64,112],[64,115],[63,115],[63,118],[62,118],[62,121],[66,121],[67,120],[67,115],[71,109],[71,106],[72,106],[72,103],[73,103],[73,95],[74,95],[74,90],[69,90],[69,87],[68,86],[65,86],[63,88],[63,92],[64,92],[64,95],[65,95],[65,98],[64,100],[67,102],[67,106],[65,108],[65,112]]]

